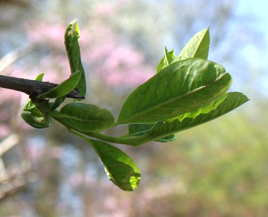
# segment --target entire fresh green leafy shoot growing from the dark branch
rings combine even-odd
[[[133,191],[138,187],[141,174],[127,154],[106,142],[139,146],[150,141],[174,141],[175,133],[211,121],[248,101],[242,93],[226,93],[231,75],[222,65],[207,60],[207,28],[193,36],[178,56],[174,50],[165,48],[156,75],[129,95],[117,121],[109,110],[92,104],[74,102],[58,111],[56,108],[74,88],[82,96],[86,94],[78,40],[79,28],[74,20],[65,33],[70,78],[32,98],[21,117],[36,128],[50,126],[53,118],[85,139],[98,154],[108,178],[122,190]],[[42,78],[43,74],[37,79]],[[55,101],[50,103],[48,99],[52,98]],[[129,134],[114,137],[101,133],[118,125],[128,125]]]

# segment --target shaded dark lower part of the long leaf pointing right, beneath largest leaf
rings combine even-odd
[[[207,113],[207,109],[203,109],[203,112],[198,112],[199,114],[196,117],[182,117],[173,118],[164,122],[160,127],[158,127],[152,134],[150,140],[155,140],[157,138],[161,138],[163,136],[168,136],[170,134],[178,133],[180,131],[187,130],[189,128],[201,125],[203,123],[209,122],[217,117],[220,117],[235,108],[239,107],[240,105],[246,103],[248,98],[243,95],[242,93],[238,92],[231,92],[226,93],[223,96],[224,100],[218,104],[215,103],[217,106],[211,107],[211,111]],[[220,102],[221,100],[218,100]],[[202,109],[200,109],[202,110]]]

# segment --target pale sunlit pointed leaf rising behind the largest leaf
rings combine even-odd
[[[188,58],[201,58],[207,60],[210,44],[209,28],[203,29],[190,39],[173,62]]]

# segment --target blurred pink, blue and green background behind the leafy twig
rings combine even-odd
[[[0,216],[268,216],[267,11],[265,0],[0,0],[2,75],[67,79],[64,32],[77,19],[84,102],[117,117],[155,74],[165,46],[179,54],[211,26],[208,59],[233,76],[230,91],[251,99],[174,142],[116,145],[142,173],[139,188],[124,192],[86,142],[55,121],[42,130],[27,125],[20,113],[28,95],[1,89]]]

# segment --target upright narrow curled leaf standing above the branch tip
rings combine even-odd
[[[65,47],[70,63],[70,69],[71,73],[74,73],[76,71],[81,72],[81,77],[79,80],[79,83],[76,86],[76,89],[79,91],[81,96],[86,95],[86,78],[85,78],[85,72],[81,61],[81,55],[80,55],[80,45],[79,45],[79,27],[77,24],[77,20],[73,20],[68,25],[66,31],[65,31]],[[81,101],[81,99],[78,101]]]

